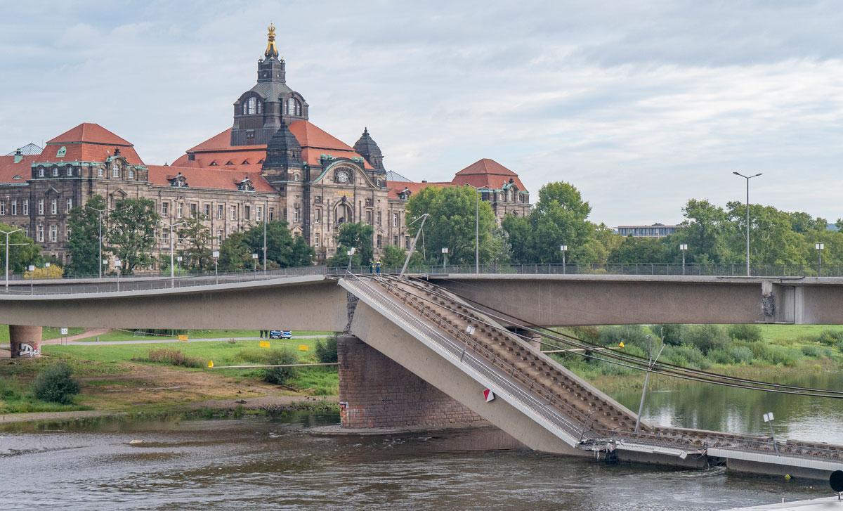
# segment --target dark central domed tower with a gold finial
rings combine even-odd
[[[264,58],[258,61],[258,81],[234,102],[231,145],[269,143],[282,123],[308,118],[308,104],[302,94],[287,86],[287,64],[275,43],[275,26],[266,35]]]

